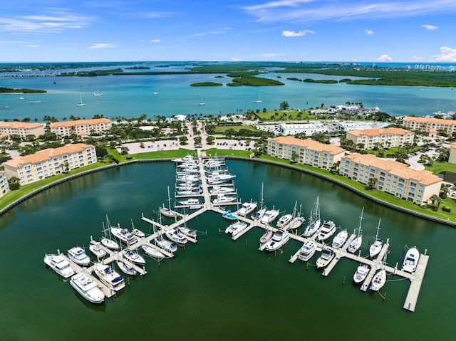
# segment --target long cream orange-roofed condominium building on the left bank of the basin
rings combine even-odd
[[[14,157],[3,165],[6,177],[17,177],[22,185],[94,162],[97,162],[95,147],[78,143],[43,149],[24,157]]]

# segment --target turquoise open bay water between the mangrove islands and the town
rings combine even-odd
[[[153,66],[153,65],[151,65]],[[111,67],[112,68],[112,67]],[[152,71],[184,70],[185,66],[152,68]],[[99,69],[99,68],[98,68]],[[403,86],[347,85],[303,83],[286,78],[336,79],[328,75],[269,73],[264,77],[277,79],[283,86],[269,87],[191,87],[195,82],[229,83],[232,78],[216,75],[129,75],[100,77],[25,77],[0,78],[0,86],[7,88],[43,89],[47,93],[0,96],[0,119],[51,115],[91,118],[93,115],[139,117],[154,115],[227,115],[252,110],[279,109],[286,100],[290,107],[305,109],[320,107],[323,103],[341,105],[347,101],[362,102],[366,107],[378,105],[390,115],[430,115],[436,110],[456,110],[456,91],[452,88],[419,88]],[[56,82],[56,84],[54,84]],[[101,97],[92,94],[99,90]],[[152,93],[157,92],[157,95]],[[82,95],[84,107],[76,106]],[[261,97],[261,103],[254,103]],[[19,100],[20,97],[24,99]],[[204,100],[206,105],[198,103]],[[9,109],[4,109],[8,104]]]

